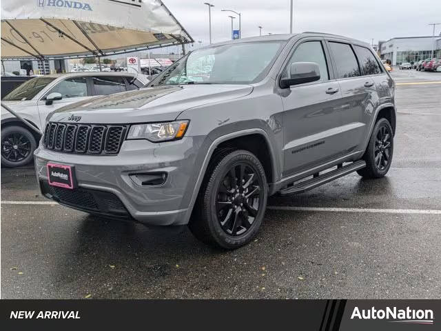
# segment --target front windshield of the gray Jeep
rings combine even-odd
[[[259,41],[195,50],[164,70],[149,86],[254,83],[267,74],[284,44]]]

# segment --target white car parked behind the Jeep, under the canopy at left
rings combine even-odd
[[[43,132],[50,112],[99,95],[137,90],[148,83],[143,74],[127,72],[71,72],[26,81],[1,103]],[[14,168],[32,160],[39,134],[1,108],[1,165]]]

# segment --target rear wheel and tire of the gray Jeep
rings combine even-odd
[[[387,119],[379,119],[373,127],[371,139],[362,159],[366,168],[358,170],[358,174],[366,179],[384,177],[391,168],[393,157],[393,130]]]

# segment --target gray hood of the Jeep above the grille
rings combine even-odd
[[[132,92],[88,99],[55,110],[50,121],[77,123],[143,123],[173,121],[181,112],[209,103],[245,97],[249,85],[186,85],[142,88]],[[81,117],[81,119],[79,119]]]

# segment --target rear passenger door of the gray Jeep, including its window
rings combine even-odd
[[[350,43],[328,41],[335,74],[342,93],[340,120],[341,148],[345,154],[356,152],[364,142],[367,130],[366,114],[372,114],[378,102],[372,77],[363,76],[356,53]]]

